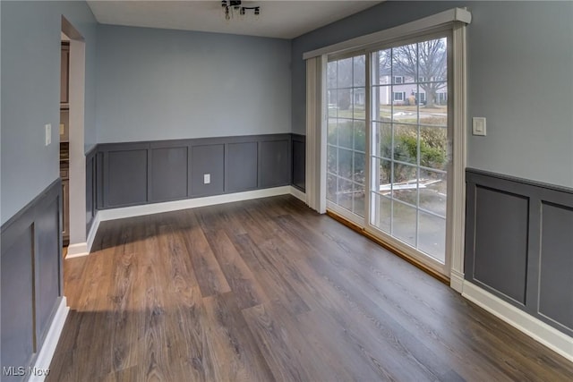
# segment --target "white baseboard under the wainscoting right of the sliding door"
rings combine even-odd
[[[501,318],[512,327],[516,327],[535,341],[547,346],[553,352],[557,352],[569,361],[573,361],[573,337],[561,333],[554,327],[550,327],[542,320],[518,310],[513,305],[484,291],[479,286],[468,281],[464,282],[462,296],[474,302],[494,316]]]

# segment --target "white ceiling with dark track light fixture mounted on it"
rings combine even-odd
[[[201,30],[217,33],[295,38],[306,32],[370,8],[381,1],[260,0],[243,1],[261,6],[258,18],[247,13],[225,20],[219,0],[88,0],[96,20],[102,24],[172,30]]]

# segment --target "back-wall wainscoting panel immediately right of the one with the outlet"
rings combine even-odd
[[[257,157],[257,142],[227,144],[225,191],[250,191],[257,188]]]

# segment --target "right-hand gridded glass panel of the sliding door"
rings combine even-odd
[[[371,54],[368,221],[445,263],[448,199],[447,38]]]

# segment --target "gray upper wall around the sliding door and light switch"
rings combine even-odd
[[[488,131],[469,136],[468,166],[573,187],[573,2],[387,2],[295,38],[292,131],[305,133],[304,52],[456,6],[473,14],[469,117]]]

